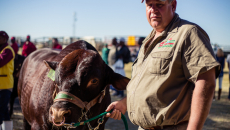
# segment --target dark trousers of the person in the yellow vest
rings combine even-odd
[[[2,121],[10,120],[10,114],[8,109],[8,103],[10,100],[11,91],[4,89],[0,91],[0,124]]]

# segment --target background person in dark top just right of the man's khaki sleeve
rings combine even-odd
[[[220,74],[219,74],[219,91],[218,91],[218,100],[220,100],[220,96],[221,96],[221,91],[222,91],[222,81],[223,81],[223,69],[225,66],[225,57],[224,57],[224,52],[221,48],[217,49],[217,53],[216,53],[216,60],[220,63],[221,65],[221,70],[220,70]],[[215,92],[214,92],[214,97],[213,99],[215,100]]]

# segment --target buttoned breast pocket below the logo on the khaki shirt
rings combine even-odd
[[[161,51],[151,53],[148,70],[152,74],[165,75],[169,71],[173,52]]]

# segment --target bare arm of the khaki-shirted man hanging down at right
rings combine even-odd
[[[215,91],[215,68],[198,76],[192,96],[187,130],[201,130],[210,111]]]

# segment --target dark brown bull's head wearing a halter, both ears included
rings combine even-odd
[[[129,82],[128,78],[114,73],[99,53],[93,50],[78,49],[65,56],[61,62],[44,62],[49,69],[55,70],[57,100],[49,111],[49,121],[55,124],[60,124],[64,119],[68,123],[78,122],[81,111],[93,107],[89,102],[96,97],[97,102],[106,100],[103,99],[106,86],[112,84],[116,89],[124,90]],[[62,100],[63,96],[76,99],[77,102]]]

